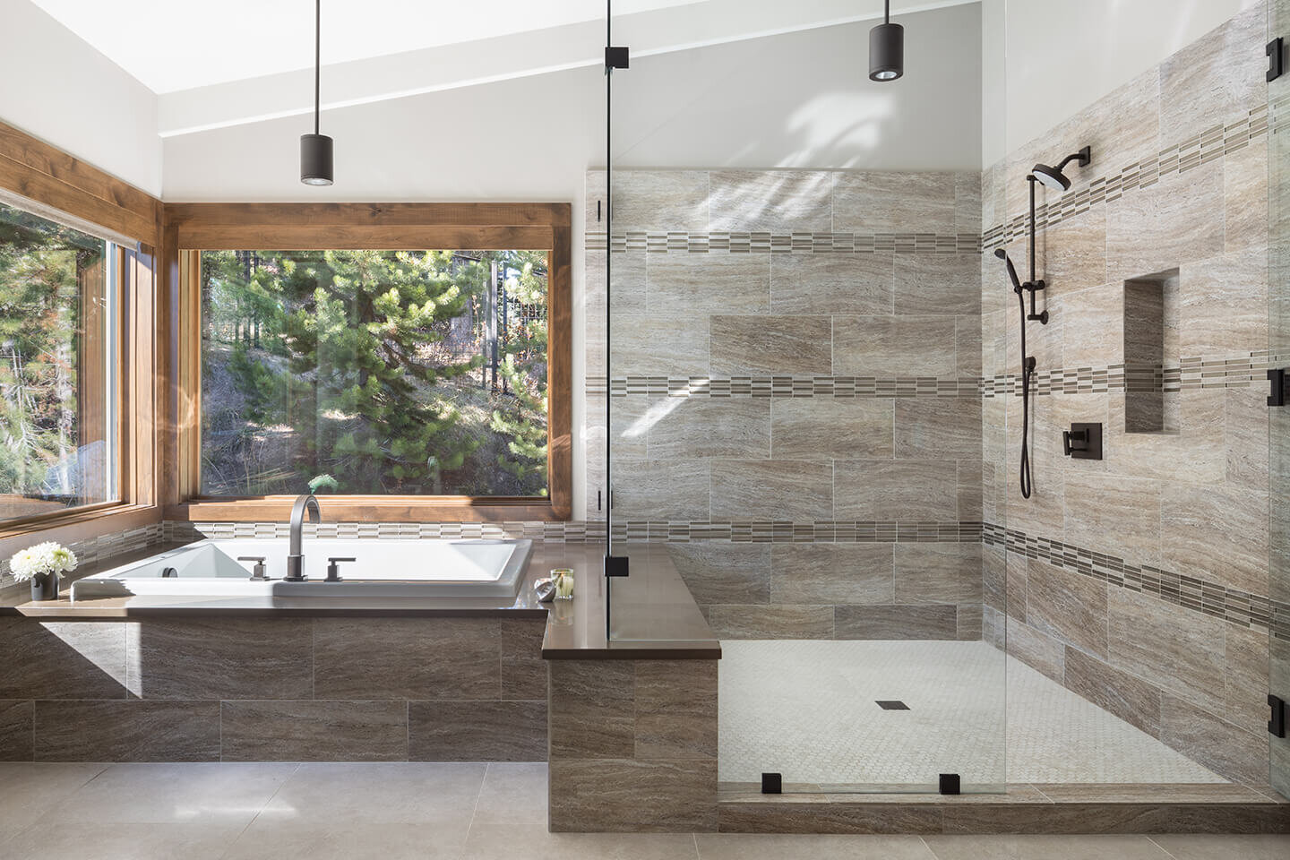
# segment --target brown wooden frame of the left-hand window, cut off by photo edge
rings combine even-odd
[[[155,480],[160,444],[155,392],[166,331],[156,315],[155,249],[161,244],[161,201],[48,143],[0,122],[0,188],[135,239],[117,245],[116,502],[86,504],[0,522],[0,556],[32,536],[71,543],[135,529],[161,518]]]

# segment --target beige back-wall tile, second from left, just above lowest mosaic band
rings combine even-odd
[[[833,517],[833,465],[808,460],[713,460],[713,520],[808,522]]]

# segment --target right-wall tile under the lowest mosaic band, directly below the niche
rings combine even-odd
[[[1120,588],[1107,593],[1111,664],[1223,712],[1223,621]]]

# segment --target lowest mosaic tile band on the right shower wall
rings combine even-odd
[[[1054,567],[1091,576],[1117,588],[1152,594],[1166,603],[1204,612],[1229,624],[1267,629],[1277,638],[1290,641],[1290,603],[1151,565],[1135,565],[1118,556],[1108,556],[1051,538],[1027,535],[1024,531],[1005,529],[993,522],[983,525],[982,542],[988,547],[1002,547],[1007,552],[1038,558]]]

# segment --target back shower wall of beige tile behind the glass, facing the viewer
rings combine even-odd
[[[604,174],[588,177],[588,520]],[[618,171],[614,531],[724,638],[980,638],[980,174]]]

